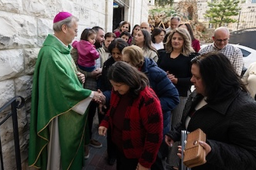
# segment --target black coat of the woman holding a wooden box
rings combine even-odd
[[[202,100],[193,92],[183,112],[182,123],[168,134],[174,141],[185,129],[185,117],[189,110]],[[206,164],[192,170],[255,170],[256,169],[256,102],[239,90],[232,97],[218,104],[206,104],[195,111],[187,130],[201,128],[212,151],[206,156]]]

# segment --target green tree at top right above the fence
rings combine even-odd
[[[240,0],[214,0],[207,2],[209,10],[206,11],[205,16],[209,18],[209,22],[216,26],[223,26],[225,23],[237,22],[237,19],[232,19],[240,12]]]

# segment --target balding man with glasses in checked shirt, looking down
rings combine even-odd
[[[199,53],[209,53],[218,51],[223,53],[230,59],[231,64],[240,76],[243,69],[243,53],[240,49],[228,43],[230,39],[230,32],[226,27],[219,27],[215,29],[213,34],[213,43],[199,50]]]

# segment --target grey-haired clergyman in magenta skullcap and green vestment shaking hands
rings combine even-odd
[[[53,28],[54,35],[49,34],[40,49],[33,75],[29,166],[77,170],[84,162],[88,104],[104,96],[83,88],[85,75],[71,58],[78,18],[60,12]]]

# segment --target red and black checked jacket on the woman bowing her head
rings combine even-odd
[[[119,93],[112,90],[110,108],[100,126],[112,129],[112,116],[119,104]],[[126,108],[123,122],[123,152],[126,158],[138,158],[141,165],[150,168],[163,140],[161,104],[150,87],[140,92],[133,104]],[[128,111],[130,110],[130,111]],[[112,136],[112,138],[115,138]]]

